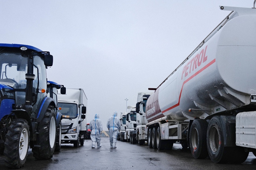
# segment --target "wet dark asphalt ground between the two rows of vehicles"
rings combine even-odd
[[[109,138],[101,138],[102,148],[91,148],[91,140],[74,148],[62,145],[49,160],[36,160],[29,149],[27,161],[21,170],[252,170],[256,157],[250,152],[242,164],[215,164],[210,159],[194,159],[190,150],[183,150],[175,143],[170,151],[158,151],[143,145],[117,141],[117,148],[110,148]],[[0,170],[8,169],[0,155]]]

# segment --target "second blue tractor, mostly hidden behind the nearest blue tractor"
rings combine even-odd
[[[61,130],[62,130],[62,124],[61,124],[61,119],[62,119],[62,114],[58,112],[58,89],[60,89],[60,94],[66,94],[66,87],[63,85],[59,85],[53,81],[47,81],[47,96],[53,98],[54,103],[56,105],[55,112],[56,114],[56,142],[55,142],[55,150],[56,152],[60,151],[61,147]]]

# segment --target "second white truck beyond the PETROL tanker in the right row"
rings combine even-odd
[[[130,143],[135,142],[132,136],[134,136],[136,132],[136,111],[135,106],[128,106],[128,112],[126,114],[126,130],[124,132],[124,140]]]

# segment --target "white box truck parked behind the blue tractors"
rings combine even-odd
[[[58,107],[62,113],[62,143],[73,143],[77,148],[84,145],[86,134],[87,97],[83,89],[66,89],[58,94]]]

